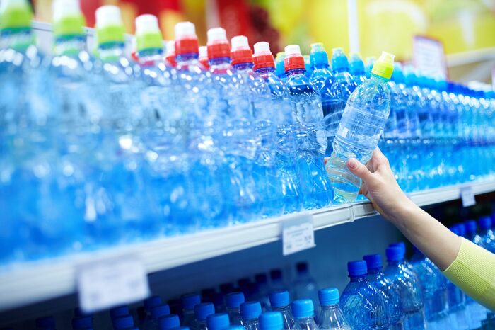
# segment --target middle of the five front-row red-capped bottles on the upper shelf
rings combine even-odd
[[[283,210],[283,187],[276,168],[276,132],[274,122],[276,108],[272,102],[272,93],[267,82],[255,74],[252,67],[252,51],[248,38],[238,35],[231,40],[232,67],[240,74],[248,88],[252,105],[252,124],[254,125],[257,154],[252,174],[263,201],[263,215],[279,215]]]

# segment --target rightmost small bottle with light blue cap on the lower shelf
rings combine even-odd
[[[328,330],[351,330],[351,326],[339,307],[339,289],[326,288],[318,291],[321,312],[318,316],[318,328]]]

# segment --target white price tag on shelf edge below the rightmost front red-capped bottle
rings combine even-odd
[[[283,254],[287,256],[315,246],[313,215],[301,213],[287,217],[282,223]]]

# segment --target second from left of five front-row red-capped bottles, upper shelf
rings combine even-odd
[[[228,215],[245,222],[262,215],[262,195],[252,176],[257,154],[248,85],[231,67],[231,49],[223,28],[208,30],[208,57],[216,89],[211,107],[218,112],[218,136],[224,157],[222,188]],[[217,129],[218,130],[218,129]]]

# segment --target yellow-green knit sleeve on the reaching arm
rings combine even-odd
[[[457,258],[443,274],[472,299],[495,311],[495,254],[463,238]]]

